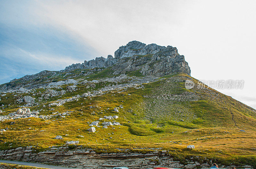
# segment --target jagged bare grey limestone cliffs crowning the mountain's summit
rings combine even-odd
[[[65,68],[64,72],[75,69],[95,67],[112,67],[114,74],[140,71],[143,75],[164,76],[172,73],[185,73],[190,75],[190,67],[184,56],[178,53],[176,47],[146,45],[138,41],[129,42],[115,52],[115,58],[99,57],[84,63],[73,64]]]

